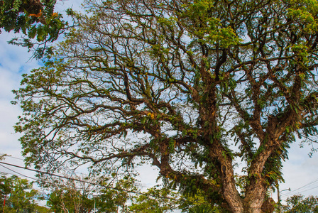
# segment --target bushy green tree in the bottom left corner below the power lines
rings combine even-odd
[[[0,177],[1,212],[48,212],[48,209],[39,207],[36,203],[39,195],[39,192],[33,189],[33,184],[26,179],[18,178],[15,175],[10,177],[1,175]]]

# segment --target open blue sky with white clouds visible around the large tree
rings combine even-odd
[[[79,3],[73,4],[72,1],[62,1],[57,5],[57,10],[60,11],[67,7],[78,9]],[[31,53],[28,53],[26,48],[7,44],[7,41],[12,36],[13,33],[0,34],[0,153],[7,153],[15,157],[6,158],[6,162],[23,165],[23,161],[17,159],[22,158],[21,146],[18,142],[19,135],[13,133],[12,127],[17,121],[17,116],[21,114],[21,109],[17,105],[11,105],[10,102],[14,99],[11,91],[12,89],[18,89],[21,74],[30,72],[30,70],[40,64],[36,60],[30,60]],[[290,187],[292,191],[282,192],[283,200],[287,195],[298,193],[302,193],[302,195],[318,195],[318,153],[314,153],[312,158],[309,158],[309,150],[309,146],[300,148],[297,143],[291,146],[289,160],[284,163],[283,168],[285,183],[280,185],[280,190]],[[24,175],[34,175],[34,173],[27,170],[11,169]],[[0,171],[13,173],[2,167],[0,167]],[[157,172],[154,172],[150,166],[141,168],[140,173],[142,185],[151,186],[155,184]],[[300,189],[297,190],[298,188]],[[272,197],[276,200],[276,193],[273,193]]]

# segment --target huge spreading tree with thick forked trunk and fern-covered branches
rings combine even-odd
[[[16,91],[27,163],[118,174],[151,163],[182,192],[261,212],[289,144],[315,142],[317,1],[86,5]]]

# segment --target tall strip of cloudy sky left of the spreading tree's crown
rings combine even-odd
[[[21,109],[11,104],[14,99],[12,90],[18,89],[22,73],[39,65],[37,61],[30,60],[31,53],[28,53],[26,48],[7,43],[12,37],[12,33],[0,34],[0,153],[22,158],[19,135],[13,133],[13,125],[18,121],[17,116],[21,114]],[[16,160],[8,158],[6,162],[8,161]],[[19,164],[23,165],[23,162]],[[4,170],[6,169],[0,168],[0,171]]]

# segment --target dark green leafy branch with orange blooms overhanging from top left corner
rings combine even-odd
[[[13,38],[9,43],[35,50],[35,58],[43,57],[47,44],[57,40],[65,31],[67,22],[54,12],[56,0],[2,0],[0,1],[0,33],[23,33],[24,38]],[[35,38],[35,40],[33,40]]]

